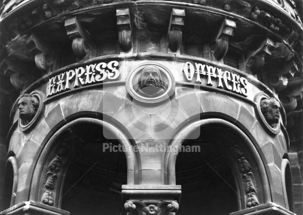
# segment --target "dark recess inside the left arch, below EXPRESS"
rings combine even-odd
[[[65,171],[61,208],[72,215],[123,214],[121,185],[127,184],[126,158],[119,148],[113,150],[119,141],[106,139],[103,132],[110,131],[96,125],[70,128],[80,144]]]

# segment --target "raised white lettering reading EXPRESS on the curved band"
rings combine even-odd
[[[118,61],[100,62],[71,69],[49,78],[47,97],[106,80],[117,80],[120,72]]]

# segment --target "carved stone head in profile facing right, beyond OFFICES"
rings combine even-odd
[[[260,107],[266,122],[274,128],[280,119],[280,103],[275,98],[268,98],[261,100]]]

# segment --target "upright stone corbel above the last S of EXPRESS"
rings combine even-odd
[[[127,52],[132,48],[132,24],[128,8],[116,10],[120,48]]]

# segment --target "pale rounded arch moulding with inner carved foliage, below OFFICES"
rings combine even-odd
[[[270,188],[269,188],[269,183],[268,183],[268,178],[267,178],[267,174],[266,174],[266,170],[265,170],[265,166],[263,164],[263,161],[260,157],[260,155],[258,154],[257,149],[255,148],[255,144],[252,142],[254,140],[251,140],[248,135],[246,135],[243,131],[241,131],[241,129],[239,129],[236,125],[232,124],[231,122],[228,122],[224,119],[201,119],[201,120],[197,120],[194,122],[190,122],[189,124],[185,125],[183,128],[179,129],[178,132],[175,134],[174,138],[171,140],[170,142],[170,147],[176,147],[179,148],[183,141],[186,139],[187,135],[190,134],[191,132],[193,132],[195,129],[200,128],[201,126],[213,126],[213,125],[224,125],[226,127],[228,127],[229,129],[232,129],[243,141],[243,147],[247,148],[247,151],[249,151],[250,157],[252,159],[250,159],[250,163],[251,166],[254,165],[255,169],[254,169],[254,173],[256,177],[260,178],[260,180],[258,181],[258,187],[260,187],[261,189],[258,189],[258,198],[259,198],[259,204],[261,203],[267,203],[271,201],[271,194],[270,194]],[[246,155],[244,155],[245,153],[243,153],[241,151],[240,148],[235,148],[235,151],[233,152],[236,155],[236,159],[231,159],[230,158],[230,163],[232,164],[231,169],[234,170],[234,172],[239,172],[240,174],[242,174],[242,176],[245,175],[245,177],[247,177],[249,174],[246,171],[239,171],[237,170],[239,167],[239,165],[243,165],[244,163],[241,163],[239,165],[237,165],[237,160],[241,158],[244,160],[244,162],[248,162],[246,160]],[[174,185],[176,184],[176,171],[175,171],[175,163],[176,163],[176,159],[177,159],[177,155],[178,153],[172,153],[173,150],[169,150],[166,152],[165,155],[165,160],[164,160],[164,169],[165,171],[167,171],[167,183],[169,185]],[[231,156],[232,157],[232,156]],[[250,165],[248,162],[248,165]],[[239,168],[240,169],[240,168]],[[239,187],[239,192],[241,193],[241,195],[245,195],[245,191],[244,189],[241,189],[241,187],[243,187],[243,181],[241,180],[241,177],[236,176],[235,178],[238,177],[238,180],[235,181],[235,183],[237,184],[236,186]],[[253,178],[249,178],[247,182],[250,183],[250,181],[254,181]],[[248,193],[246,193],[248,195]],[[249,194],[250,195],[250,194]],[[248,197],[247,197],[248,198]],[[241,199],[239,199],[239,201],[241,201]],[[240,209],[244,209],[245,207],[250,207],[248,205],[245,205],[246,202],[240,203],[238,202],[238,205],[242,205],[242,208],[240,207]]]

